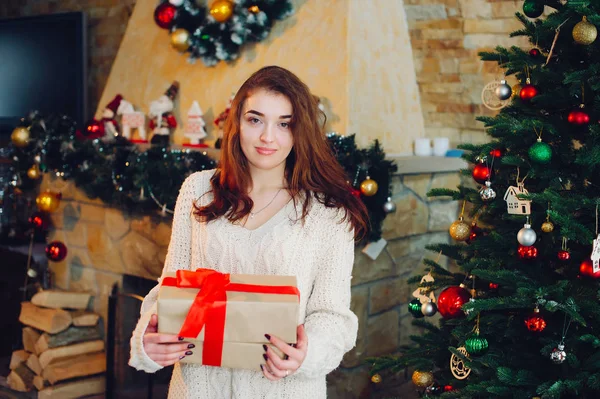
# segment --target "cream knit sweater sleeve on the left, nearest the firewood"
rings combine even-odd
[[[206,187],[203,186],[208,185],[208,177],[206,175],[202,176],[202,174],[194,173],[188,176],[181,185],[175,203],[171,240],[169,241],[162,276],[158,279],[158,284],[144,298],[140,310],[140,319],[131,336],[129,365],[140,371],[154,373],[163,368],[146,354],[144,350],[144,333],[150,322],[150,317],[157,312],[158,290],[164,274],[191,267],[193,203],[203,192],[207,191]]]

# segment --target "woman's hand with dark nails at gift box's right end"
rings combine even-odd
[[[302,362],[304,362],[306,351],[308,350],[308,338],[304,332],[304,324],[298,326],[298,339],[295,347],[288,345],[277,337],[270,335],[266,336],[269,342],[286,355],[286,359],[280,358],[271,348],[264,345],[266,353],[263,356],[267,363],[266,365],[260,365],[263,375],[271,381],[277,381],[288,375],[292,375],[300,368]]]

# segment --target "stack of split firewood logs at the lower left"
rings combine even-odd
[[[23,349],[13,352],[9,386],[38,390],[38,399],[79,398],[105,390],[106,353],[90,295],[41,291],[21,304]]]

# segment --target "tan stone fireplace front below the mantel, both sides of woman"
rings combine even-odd
[[[456,172],[396,175],[393,200],[397,211],[383,226],[386,248],[371,260],[357,247],[352,287],[352,309],[359,318],[357,346],[330,376],[329,395],[350,398],[368,395],[374,387],[368,378],[367,357],[394,353],[410,342],[416,331],[406,304],[415,287],[406,280],[423,268],[429,243],[448,242],[448,226],[456,220],[458,204],[429,200],[434,187],[456,187]],[[46,179],[42,188],[64,182]],[[62,187],[59,210],[52,214],[51,240],[63,241],[67,257],[50,262],[58,288],[90,291],[94,309],[104,318],[112,285],[123,275],[156,279],[161,272],[170,238],[170,219],[156,216],[130,218],[119,209],[91,200],[73,185]],[[157,210],[158,211],[158,210]]]

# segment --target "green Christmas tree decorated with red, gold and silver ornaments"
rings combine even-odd
[[[411,279],[424,333],[371,359],[374,382],[410,368],[427,397],[600,397],[600,1],[526,0],[523,13],[512,36],[530,48],[480,53],[519,84],[499,82],[507,106],[478,118],[490,142],[462,146],[479,186],[429,193],[460,201],[455,243],[427,248],[457,271],[428,260]],[[424,318],[432,292],[439,326]]]

